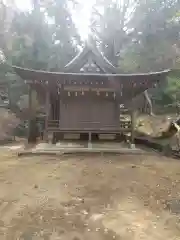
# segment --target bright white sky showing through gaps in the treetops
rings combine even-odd
[[[82,37],[86,39],[89,33],[89,23],[92,6],[96,0],[78,0],[79,6],[76,11],[72,12],[73,20],[76,24],[76,27]],[[30,9],[30,0],[15,0],[17,7],[23,11]]]

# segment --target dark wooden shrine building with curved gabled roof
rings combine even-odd
[[[13,68],[30,86],[30,112],[33,92],[45,106],[44,138],[49,133],[54,136],[58,133],[88,133],[91,140],[92,133],[129,131],[132,141],[133,118],[128,124],[122,123],[120,105],[155,87],[169,71],[118,74],[117,69],[91,44],[86,44],[62,72]]]

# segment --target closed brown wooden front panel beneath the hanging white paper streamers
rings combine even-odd
[[[67,98],[61,102],[60,127],[82,130],[118,128],[117,111],[113,101]]]

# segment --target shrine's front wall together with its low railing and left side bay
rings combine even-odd
[[[49,116],[48,131],[119,132],[119,104],[114,99],[105,93],[103,98],[74,94],[59,98],[59,103],[56,101],[54,110],[57,113]]]

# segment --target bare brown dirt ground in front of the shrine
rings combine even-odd
[[[180,162],[160,157],[0,158],[0,239],[180,239]],[[180,206],[176,207],[180,212]]]

